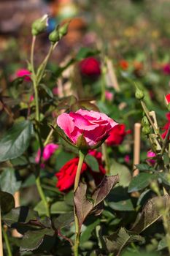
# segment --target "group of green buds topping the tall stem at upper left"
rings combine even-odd
[[[32,24],[32,34],[34,36],[37,36],[45,32],[48,25],[47,21],[48,21],[47,14],[42,16],[42,18],[35,20],[34,23]],[[69,22],[64,23],[63,26],[56,26],[55,29],[50,33],[48,37],[50,42],[52,42],[53,44],[55,44],[55,42],[58,42],[63,36],[67,34],[68,27],[69,27]]]

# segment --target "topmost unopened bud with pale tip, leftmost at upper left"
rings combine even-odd
[[[45,31],[45,29],[47,28],[47,18],[48,16],[46,14],[42,18],[34,21],[34,23],[32,24],[32,34],[34,36],[37,36],[38,34],[41,34]]]

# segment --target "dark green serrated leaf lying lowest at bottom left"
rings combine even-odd
[[[20,251],[33,251],[37,249],[43,242],[45,236],[54,236],[53,229],[44,228],[42,230],[28,230],[20,243]]]

